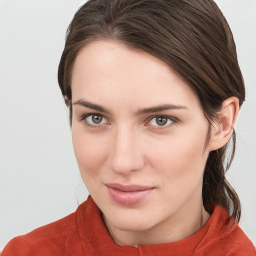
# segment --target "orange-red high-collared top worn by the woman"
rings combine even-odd
[[[252,242],[228,213],[215,206],[206,224],[193,235],[175,242],[121,246],[102,221],[100,210],[89,196],[75,212],[30,233],[10,240],[2,256],[255,256]]]

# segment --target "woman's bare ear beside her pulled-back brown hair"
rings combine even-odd
[[[218,120],[212,124],[209,151],[218,149],[227,143],[232,135],[238,110],[239,100],[237,97],[229,97],[222,102]]]

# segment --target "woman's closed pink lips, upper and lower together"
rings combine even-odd
[[[137,184],[122,185],[119,183],[105,184],[110,197],[122,205],[132,205],[144,200],[153,190],[152,186]]]

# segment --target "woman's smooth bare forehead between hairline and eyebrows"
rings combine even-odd
[[[151,105],[184,104],[193,99],[198,104],[192,89],[164,61],[112,41],[94,41],[79,51],[71,89],[72,101],[90,97]]]

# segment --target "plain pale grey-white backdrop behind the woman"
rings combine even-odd
[[[83,2],[0,0],[0,249],[87,196],[56,78],[66,27]],[[216,2],[233,31],[247,93],[227,177],[242,202],[240,225],[255,244],[256,1]]]

